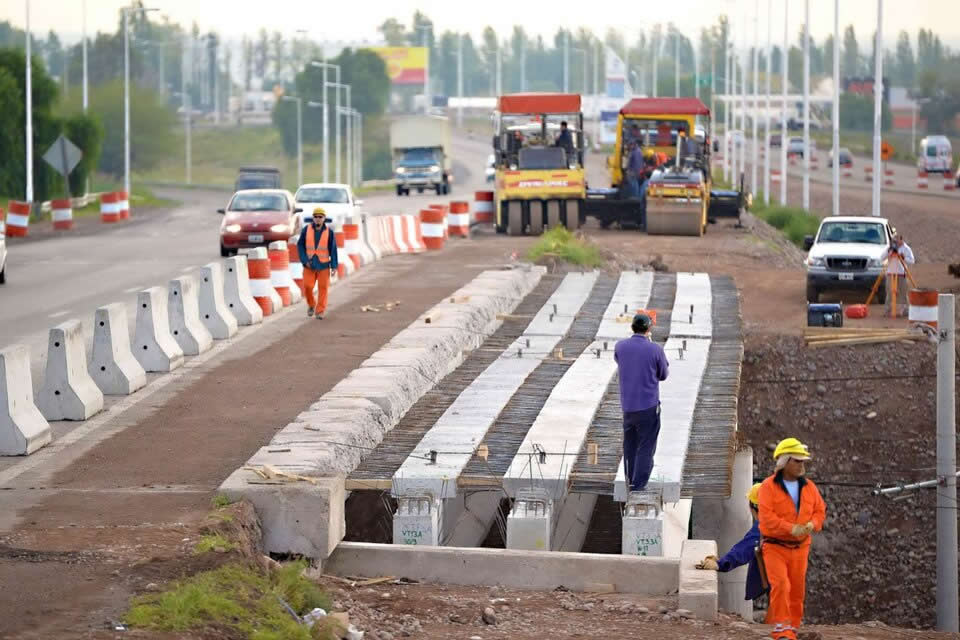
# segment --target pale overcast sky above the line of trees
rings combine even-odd
[[[872,37],[877,24],[877,0],[839,0],[841,30],[852,23],[861,49]],[[117,24],[122,0],[0,0],[0,20],[9,20],[23,27],[25,4],[30,2],[31,29],[46,34],[50,29],[62,34],[67,42],[79,38],[82,6],[87,7],[87,29],[113,30]],[[757,30],[760,42],[766,43],[768,7],[772,7],[772,39],[783,40],[783,7],[789,3],[789,32],[796,42],[803,22],[804,0],[683,0],[657,2],[643,0],[633,5],[642,10],[630,11],[623,0],[608,2],[596,11],[571,0],[516,2],[485,0],[472,2],[444,0],[356,0],[324,2],[322,0],[148,0],[147,5],[159,9],[171,20],[180,23],[196,21],[201,30],[215,30],[228,38],[239,38],[257,32],[261,27],[279,30],[292,38],[305,29],[316,41],[373,41],[378,38],[377,26],[396,17],[409,23],[417,9],[433,19],[438,30],[464,31],[479,36],[486,25],[506,37],[515,24],[524,24],[528,31],[551,35],[561,25],[581,26],[602,34],[610,27],[630,32],[645,29],[654,22],[675,22],[688,36],[715,22],[721,13],[731,16],[735,31],[752,42],[753,16],[759,16]],[[833,30],[833,0],[809,0],[811,33],[822,42]],[[757,8],[759,7],[759,11]],[[885,47],[892,48],[897,33],[906,29],[912,39],[920,28],[932,28],[945,44],[960,49],[960,2],[957,0],[908,0],[884,2]],[[624,23],[624,18],[639,15],[647,22]],[[735,38],[737,36],[735,35]],[[914,45],[915,46],[915,45]]]

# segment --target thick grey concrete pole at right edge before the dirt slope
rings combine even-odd
[[[881,57],[879,49],[877,57]],[[874,171],[876,173],[876,171]],[[876,181],[880,176],[875,175]],[[937,630],[960,631],[957,618],[957,420],[954,297],[937,311]]]

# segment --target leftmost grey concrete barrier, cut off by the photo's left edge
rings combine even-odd
[[[33,402],[30,350],[22,344],[0,350],[0,455],[30,455],[51,438],[50,425]]]

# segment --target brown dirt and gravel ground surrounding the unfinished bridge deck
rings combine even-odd
[[[826,188],[812,192],[815,203],[829,203]],[[886,206],[917,254],[915,275],[924,286],[960,289],[946,273],[956,258],[956,212],[938,200],[899,197]],[[851,208],[868,211],[868,192],[856,198]],[[592,222],[585,235],[611,270],[653,263],[736,279],[746,334],[739,428],[754,447],[756,475],[770,470],[770,443],[799,437],[814,453],[811,477],[828,504],[811,559],[808,629],[828,639],[956,637],[909,630],[928,629],[935,618],[933,494],[898,502],[870,494],[878,482],[934,475],[934,348],[807,349],[801,253],[769,227],[744,222],[721,221],[703,239],[601,231]],[[522,259],[533,242],[481,233],[436,254],[388,259],[336,288],[322,322],[299,312],[284,318],[272,335],[261,332],[128,410],[115,428],[91,435],[85,450],[0,484],[0,637],[194,637],[118,632],[113,623],[132,596],[230,560],[193,548],[233,469],[419,313],[483,269]],[[392,311],[361,311],[397,300]],[[873,307],[865,323],[902,324],[879,312]],[[675,598],[322,581],[368,638],[769,633],[727,616],[718,625],[683,619]],[[481,619],[489,606],[495,625]]]

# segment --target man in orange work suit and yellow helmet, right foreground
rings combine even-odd
[[[797,640],[803,621],[810,536],[823,528],[826,504],[815,484],[804,477],[810,459],[796,438],[782,440],[773,452],[776,473],[760,485],[760,534],[763,564],[770,584],[767,624],[775,639]]]

